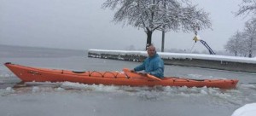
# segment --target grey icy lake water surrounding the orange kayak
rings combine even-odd
[[[45,53],[45,52],[44,52]],[[42,54],[42,53],[40,53]],[[28,83],[3,66],[13,62],[32,67],[74,71],[121,71],[139,62],[112,61],[79,55],[0,58],[0,115],[3,116],[230,116],[238,107],[256,102],[256,75],[196,67],[165,66],[166,76],[186,78],[237,78],[236,90],[186,87],[129,87],[76,83]],[[207,65],[207,64],[206,64]],[[19,85],[19,84],[18,84]]]

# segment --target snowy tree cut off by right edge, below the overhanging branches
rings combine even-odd
[[[248,20],[245,24],[244,37],[249,57],[253,56],[253,50],[256,49],[256,19]]]

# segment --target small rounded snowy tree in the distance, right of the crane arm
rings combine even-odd
[[[234,53],[235,56],[237,56],[239,53],[241,55],[245,54],[246,47],[245,47],[245,41],[243,39],[243,35],[241,32],[237,31],[227,42],[227,44],[224,45],[224,49],[227,51],[230,51],[230,53]]]

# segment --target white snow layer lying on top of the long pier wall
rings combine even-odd
[[[89,49],[90,53],[109,54],[109,55],[143,55],[148,56],[146,51],[128,51],[128,50],[106,50],[106,49]],[[241,63],[256,64],[256,58],[224,56],[224,55],[202,55],[202,54],[184,54],[184,53],[166,53],[158,52],[161,58],[165,59],[201,59],[212,61],[234,61]]]

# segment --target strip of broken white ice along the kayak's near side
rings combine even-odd
[[[171,87],[171,86],[154,86],[154,87],[131,87],[131,86],[116,86],[116,85],[103,85],[103,84],[79,84],[71,82],[63,83],[51,83],[51,82],[26,82],[26,86],[32,86],[32,90],[38,91],[40,87],[54,87],[58,90],[90,90],[90,91],[102,91],[102,92],[126,92],[129,95],[135,95],[137,93],[150,93],[150,94],[162,94],[165,96],[219,96],[219,97],[229,97],[225,96],[230,90],[220,90],[218,88],[188,88],[183,87]],[[237,91],[237,90],[235,90]],[[234,91],[233,91],[234,93]]]

